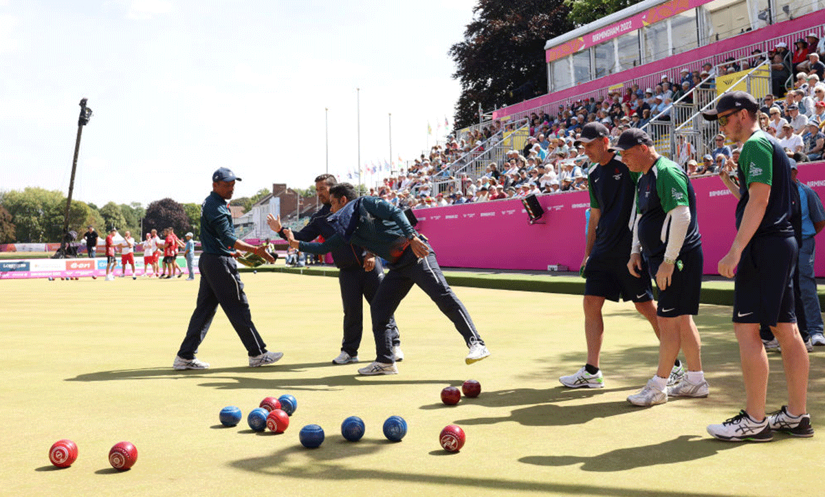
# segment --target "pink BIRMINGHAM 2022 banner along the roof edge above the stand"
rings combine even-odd
[[[623,19],[611,26],[603,27],[587,33],[585,36],[579,36],[561,45],[556,45],[549,50],[545,50],[544,60],[545,62],[550,62],[555,59],[561,59],[569,54],[576,53],[578,50],[604,43],[607,40],[614,39],[616,36],[638,30],[640,27],[650,26],[658,21],[664,21],[667,17],[675,16],[680,12],[699,7],[710,1],[711,0],[671,0],[656,7],[650,7],[648,10],[636,14],[634,17]]]

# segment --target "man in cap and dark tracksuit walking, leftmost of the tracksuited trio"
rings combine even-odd
[[[195,354],[209,331],[218,305],[226,313],[243,346],[247,348],[249,366],[266,366],[283,357],[280,352],[267,352],[266,344],[252,324],[249,301],[243,292],[243,282],[238,275],[235,263],[235,250],[252,252],[267,262],[274,263],[275,258],[263,247],[247,244],[235,238],[232,227],[232,213],[227,201],[235,190],[235,173],[228,168],[219,168],[212,174],[212,192],[200,207],[200,287],[195,311],[189,320],[186,337],[177,352],[172,367],[175,369],[206,369],[209,363],[203,362]]]

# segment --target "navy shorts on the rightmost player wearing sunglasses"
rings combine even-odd
[[[794,268],[799,246],[794,237],[754,238],[742,250],[734,279],[733,322],[775,326],[795,323]]]

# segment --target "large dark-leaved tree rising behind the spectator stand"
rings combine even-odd
[[[456,128],[478,122],[479,104],[491,111],[546,92],[544,43],[573,28],[568,11],[563,0],[479,0],[448,52],[461,83]]]

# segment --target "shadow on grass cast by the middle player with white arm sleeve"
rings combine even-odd
[[[634,410],[639,410],[639,408],[630,405],[626,400],[592,402],[584,405],[541,404],[515,409],[511,411],[509,416],[457,419],[455,424],[516,422],[524,426],[568,426],[570,424],[584,424],[593,419],[628,414]]]

